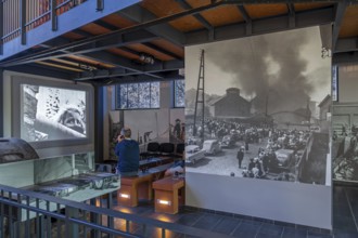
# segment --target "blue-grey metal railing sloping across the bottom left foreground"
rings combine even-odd
[[[229,237],[115,211],[107,197],[103,208],[103,199],[76,202],[0,185],[0,237]]]

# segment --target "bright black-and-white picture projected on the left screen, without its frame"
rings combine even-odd
[[[86,137],[86,91],[22,84],[22,138]]]

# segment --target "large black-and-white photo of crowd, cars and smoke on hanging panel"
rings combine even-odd
[[[187,172],[330,183],[319,27],[186,48]]]

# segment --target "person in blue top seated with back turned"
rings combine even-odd
[[[118,157],[116,173],[123,176],[137,175],[139,170],[139,144],[130,136],[130,128],[123,128],[115,147],[115,154]]]

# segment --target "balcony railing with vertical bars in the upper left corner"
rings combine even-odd
[[[49,21],[52,21],[52,30],[56,30],[57,16],[85,1],[0,0],[0,48],[16,37],[22,37],[22,44],[26,44],[26,31]]]

